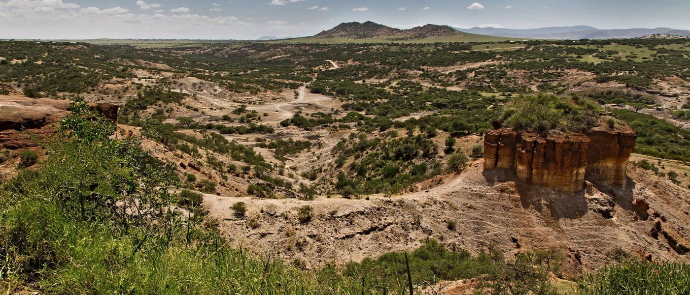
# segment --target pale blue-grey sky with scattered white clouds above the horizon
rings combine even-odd
[[[689,30],[688,12],[689,0],[0,0],[0,39],[257,39],[349,21]]]

